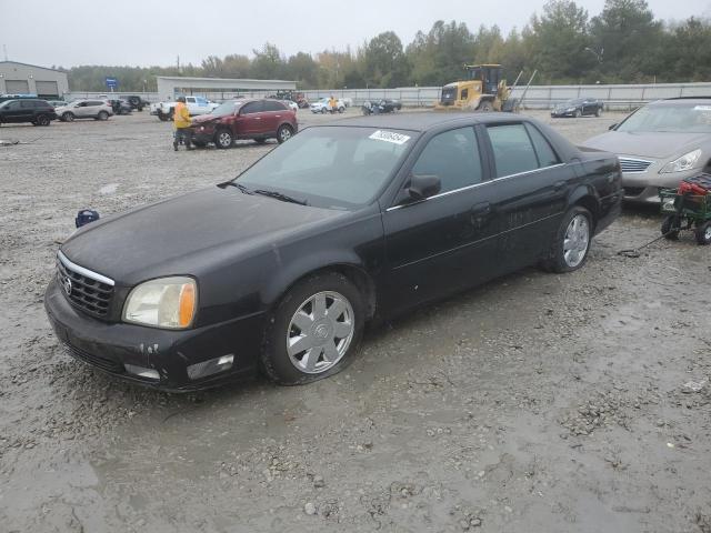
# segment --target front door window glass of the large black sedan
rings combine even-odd
[[[481,183],[482,170],[473,128],[445,131],[432,138],[412,168],[415,175],[438,175],[440,192]]]

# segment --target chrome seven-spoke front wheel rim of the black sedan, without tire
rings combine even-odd
[[[320,374],[337,364],[353,339],[353,308],[338,292],[319,292],[306,300],[291,318],[287,353],[307,374]]]

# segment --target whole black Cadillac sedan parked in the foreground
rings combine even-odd
[[[368,322],[527,265],[579,269],[620,180],[614,155],[524,117],[342,120],[84,227],[44,304],[76,358],[127,380],[306,383],[348,364]]]

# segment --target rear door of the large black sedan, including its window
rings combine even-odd
[[[490,197],[500,233],[497,263],[509,272],[535,263],[550,249],[575,178],[533,124],[483,129],[494,175]]]

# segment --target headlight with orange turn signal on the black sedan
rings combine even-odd
[[[184,330],[192,324],[198,286],[192,278],[161,278],[133,288],[123,305],[123,321]]]

